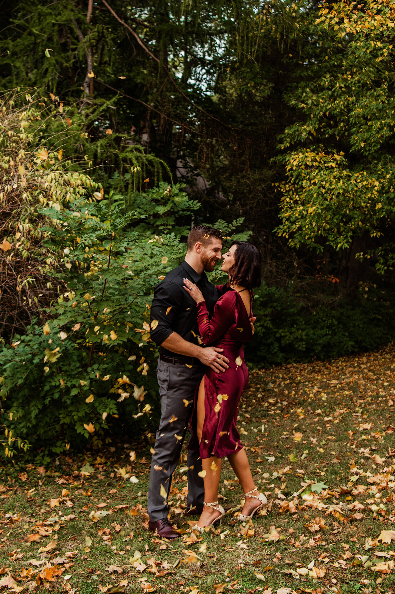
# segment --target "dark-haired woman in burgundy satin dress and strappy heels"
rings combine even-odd
[[[262,258],[254,245],[235,241],[223,259],[221,270],[228,273],[229,282],[216,287],[221,296],[211,320],[202,293],[190,280],[184,279],[184,289],[197,304],[203,343],[224,349],[223,355],[230,359],[229,368],[224,373],[206,368],[192,413],[191,426],[197,426],[197,435],[192,432],[190,448],[200,450],[205,473],[205,503],[199,522],[194,526],[200,532],[205,526],[221,523],[225,515],[224,508],[218,504],[224,456],[228,457],[246,496],[238,519],[245,522],[267,505],[265,495],[255,488],[247,454],[236,428],[238,402],[249,379],[243,344],[253,339],[250,325],[252,288],[260,285]]]

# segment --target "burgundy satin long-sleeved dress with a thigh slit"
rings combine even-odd
[[[229,359],[225,372],[205,368],[205,422],[202,441],[196,435],[199,387],[195,394],[195,407],[191,418],[192,439],[189,448],[200,449],[200,458],[222,458],[241,450],[240,434],[236,428],[238,403],[249,382],[244,361],[244,342],[253,339],[250,315],[241,295],[227,285],[216,287],[221,294],[216,302],[211,320],[206,302],[196,305],[200,337],[205,345],[216,346]],[[251,292],[251,304],[253,294]]]

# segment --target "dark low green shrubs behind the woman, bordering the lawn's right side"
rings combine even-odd
[[[288,290],[262,285],[253,312],[254,342],[246,360],[254,366],[332,359],[375,349],[395,339],[395,293],[361,284],[353,298],[303,305]]]

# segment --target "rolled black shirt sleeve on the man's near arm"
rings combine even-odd
[[[151,339],[157,346],[174,332],[177,316],[184,301],[180,290],[182,289],[179,286],[171,282],[159,283],[154,289],[150,323],[152,328],[152,324],[155,326],[155,320],[158,321],[156,328],[151,330]]]

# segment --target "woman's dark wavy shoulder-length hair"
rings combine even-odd
[[[235,263],[230,268],[230,283],[242,287],[259,287],[262,283],[262,254],[247,241],[234,241],[237,245],[234,252]],[[232,247],[232,246],[231,246]]]

